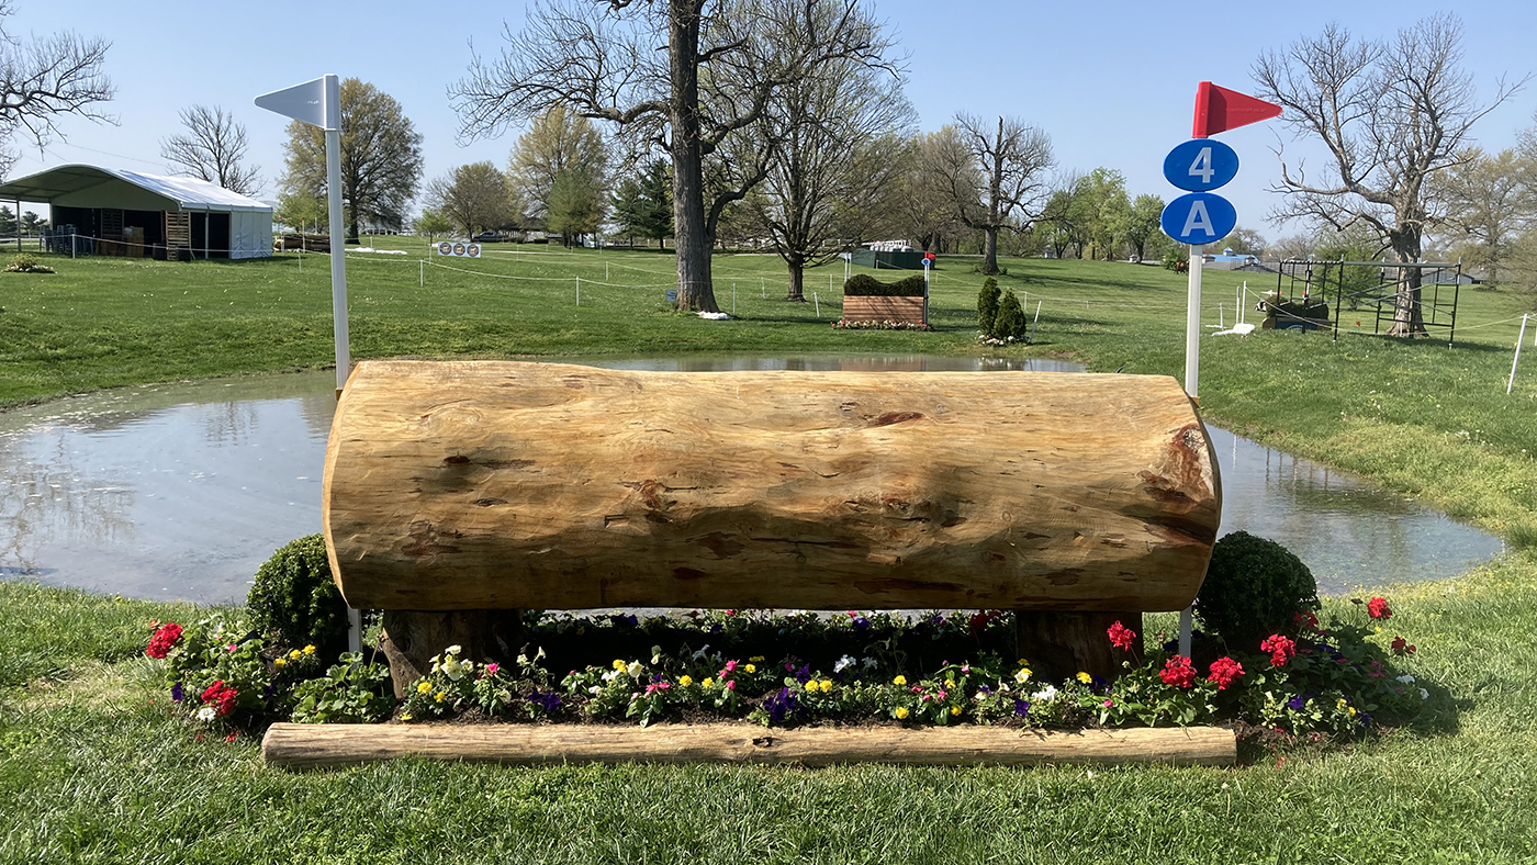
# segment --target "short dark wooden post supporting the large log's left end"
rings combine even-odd
[[[432,670],[432,656],[450,645],[460,658],[484,664],[507,662],[523,651],[521,610],[384,610],[380,648],[389,659],[395,696]]]

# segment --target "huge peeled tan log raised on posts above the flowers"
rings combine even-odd
[[[1168,376],[367,361],[324,524],[354,607],[1190,604],[1216,461]]]

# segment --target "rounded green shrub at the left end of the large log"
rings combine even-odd
[[[326,539],[310,535],[290,542],[257,570],[246,598],[252,624],[289,647],[317,645],[327,658],[347,644],[347,602],[337,592],[326,559]]]

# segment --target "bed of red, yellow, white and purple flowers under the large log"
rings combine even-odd
[[[1008,651],[1011,616],[998,611],[918,621],[736,610],[646,621],[539,616],[529,627],[529,645],[539,648],[504,664],[446,647],[398,704],[381,664],[343,655],[323,671],[314,647],[267,645],[238,621],[157,622],[146,655],[160,661],[174,711],[220,731],[287,718],[642,727],[747,719],[765,727],[1237,724],[1319,739],[1405,724],[1429,696],[1394,667],[1417,647],[1374,627],[1391,615],[1380,598],[1326,627],[1299,613],[1290,633],[1251,648],[1219,653],[1213,641],[1197,641],[1196,658],[1174,655],[1167,635],[1148,641],[1116,622],[1105,639],[1145,655],[1113,682],[1087,673],[1041,681],[1028,659]]]

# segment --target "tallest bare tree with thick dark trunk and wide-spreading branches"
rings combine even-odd
[[[705,161],[758,123],[784,85],[835,60],[882,61],[858,0],[836,6],[819,26],[805,0],[544,0],[521,32],[507,31],[498,58],[476,55],[450,88],[461,134],[490,135],[566,104],[667,152],[678,306],[716,312],[710,214],[724,210],[721,195],[745,192],[725,184],[707,204]]]

